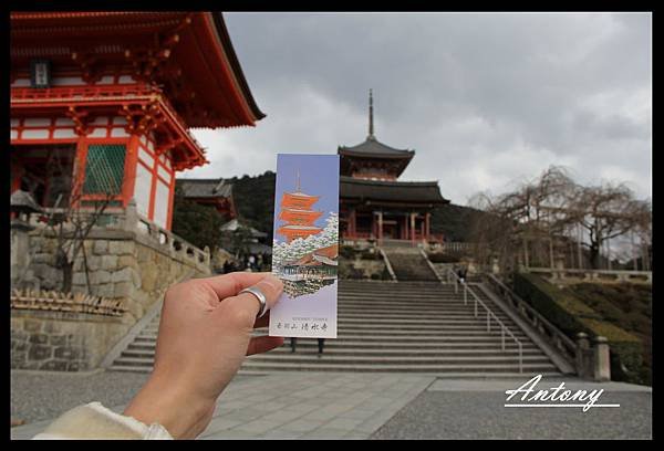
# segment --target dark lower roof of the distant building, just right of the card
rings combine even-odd
[[[437,181],[376,181],[341,176],[340,197],[400,203],[449,203]]]

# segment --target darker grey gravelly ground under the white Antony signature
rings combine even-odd
[[[620,408],[506,408],[505,390],[523,381],[437,380],[387,421],[374,439],[651,439],[652,390],[629,384],[573,379],[536,389],[604,389],[598,403]],[[522,402],[512,398],[509,403]]]

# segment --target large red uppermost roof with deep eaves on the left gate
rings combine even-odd
[[[160,85],[187,127],[253,126],[264,117],[220,12],[35,11],[10,18],[14,71],[27,71],[34,57],[60,69],[85,60],[84,67],[100,74],[145,65],[139,76]]]

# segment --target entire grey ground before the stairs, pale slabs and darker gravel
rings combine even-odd
[[[118,378],[117,384],[127,387],[128,397],[122,401],[122,406],[113,408],[115,411],[122,411],[124,403],[131,399],[134,390],[128,387],[133,376],[136,375],[115,373],[97,376],[98,384],[106,380],[104,378]],[[123,379],[126,380],[120,382]],[[61,384],[63,380],[73,382],[71,378],[69,381],[63,378],[58,380]],[[594,408],[585,413],[572,408],[505,408],[505,390],[517,388],[525,381],[436,380],[435,376],[409,374],[283,373],[238,376],[219,398],[215,417],[200,439],[652,437],[650,388],[614,382],[590,384],[570,378],[564,379],[568,388],[603,388],[605,394],[601,401],[618,402],[621,407]],[[142,384],[139,380],[133,381],[138,382]],[[547,379],[538,388],[556,387],[559,382]],[[24,384],[29,387],[27,380]],[[81,386],[85,382],[79,380],[77,384]],[[76,387],[70,387],[69,390],[73,392]],[[74,405],[98,400],[101,392],[96,391],[96,397],[86,397]],[[23,395],[22,399],[27,399],[27,396]],[[114,406],[113,402],[105,405]],[[50,421],[12,428],[12,439],[31,438]]]

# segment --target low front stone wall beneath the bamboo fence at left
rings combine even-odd
[[[71,312],[11,312],[11,367],[55,371],[94,369],[127,332],[118,317]]]

